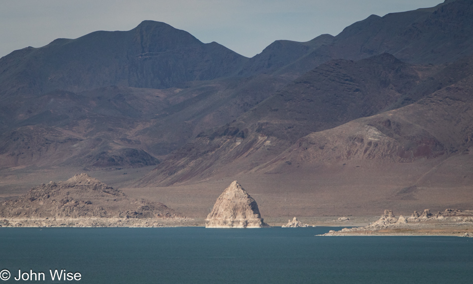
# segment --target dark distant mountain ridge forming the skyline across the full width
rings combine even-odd
[[[143,21],[129,31],[97,31],[56,39],[0,59],[0,99],[5,94],[72,92],[117,85],[183,87],[185,82],[255,74],[302,75],[331,59],[359,60],[381,53],[415,64],[454,62],[472,54],[471,1],[376,15],[340,34],[308,42],[279,40],[252,58],[186,31]]]

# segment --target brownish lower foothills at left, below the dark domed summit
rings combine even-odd
[[[155,165],[208,127],[229,123],[286,81],[266,75],[186,89],[104,87],[4,100],[0,167]],[[6,103],[8,102],[8,103]]]

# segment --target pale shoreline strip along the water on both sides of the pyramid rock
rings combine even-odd
[[[276,221],[281,217],[267,218]],[[302,217],[302,220],[311,219],[309,227],[333,228],[321,237],[375,237],[375,236],[444,236],[444,237],[472,237],[473,222],[448,222],[448,221],[421,221],[403,224],[402,226],[369,229],[369,227],[354,226],[360,220],[373,217],[353,217],[347,222],[334,221],[333,217]],[[7,224],[5,224],[5,221]],[[0,219],[0,228],[178,228],[178,227],[203,227],[204,218],[10,218]],[[268,222],[271,227],[281,227],[279,222]],[[343,228],[342,228],[343,227]],[[351,227],[351,228],[350,228]],[[292,230],[293,228],[287,228]]]

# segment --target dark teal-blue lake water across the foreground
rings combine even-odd
[[[331,229],[0,228],[0,284],[473,283],[473,239],[314,236]]]

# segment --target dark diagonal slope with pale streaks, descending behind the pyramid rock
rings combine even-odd
[[[389,54],[357,62],[328,62],[235,122],[199,134],[143,177],[139,185],[169,185],[208,177],[236,159],[238,171],[250,170],[311,132],[388,109],[418,81],[413,66]]]

